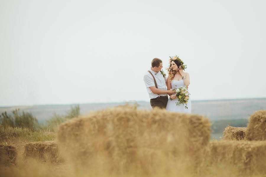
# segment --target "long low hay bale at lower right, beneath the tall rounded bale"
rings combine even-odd
[[[265,141],[212,141],[207,146],[206,157],[211,166],[233,165],[239,171],[266,173]]]

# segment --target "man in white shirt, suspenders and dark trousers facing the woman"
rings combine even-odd
[[[166,108],[168,101],[167,94],[175,94],[172,90],[166,88],[166,77],[161,73],[163,61],[159,58],[153,58],[151,68],[143,77],[148,94],[150,96],[150,105],[155,107]]]

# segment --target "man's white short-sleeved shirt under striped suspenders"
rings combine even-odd
[[[153,70],[149,69],[149,71],[153,74],[155,81],[157,83],[158,89],[160,90],[167,90],[166,88],[166,77],[163,77],[163,74],[159,71],[157,74]],[[156,75],[155,75],[156,74]],[[150,99],[157,98],[158,96],[167,96],[167,94],[158,95],[154,94],[149,87],[155,86],[153,76],[147,71],[143,77],[143,80],[145,82],[147,92],[150,96]]]

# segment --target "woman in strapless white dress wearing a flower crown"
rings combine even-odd
[[[175,56],[170,57],[169,59],[170,67],[168,68],[168,78],[167,78],[167,90],[189,86],[189,73],[185,73],[183,70],[186,68],[183,61]],[[170,98],[172,100],[170,100]],[[178,98],[174,94],[170,94],[170,98],[168,99],[166,110],[173,112],[183,112],[183,113],[191,113],[191,99],[189,96],[189,100],[187,102],[187,109],[185,108],[185,104],[181,104],[179,106],[176,105],[178,102]]]

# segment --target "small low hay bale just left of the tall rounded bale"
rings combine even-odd
[[[223,140],[244,140],[245,127],[231,127],[228,125],[223,131]]]

